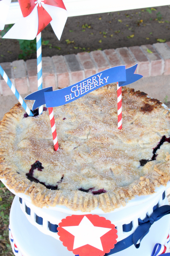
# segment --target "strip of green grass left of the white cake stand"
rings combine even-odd
[[[14,195],[0,181],[0,255],[13,256],[9,241],[9,215]]]

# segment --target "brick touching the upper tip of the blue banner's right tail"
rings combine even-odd
[[[144,52],[139,46],[131,46],[129,50],[133,53],[137,65],[137,73],[141,74],[144,77],[150,76],[150,62],[147,57],[144,55]]]

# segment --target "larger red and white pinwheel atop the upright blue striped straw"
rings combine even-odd
[[[62,0],[18,0],[18,2],[23,17],[3,38],[33,40],[50,23],[60,40],[68,17]]]

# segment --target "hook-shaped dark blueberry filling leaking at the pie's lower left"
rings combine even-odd
[[[33,171],[36,169],[38,169],[38,171],[40,171],[40,172],[42,172],[42,169],[44,169],[44,167],[42,166],[40,161],[36,161],[34,164],[31,165],[31,169],[29,170],[29,173],[26,173],[27,179],[30,180],[31,182],[34,181],[35,183],[40,183],[48,189],[56,190],[58,185],[57,186],[46,185],[44,182],[41,182],[38,179],[33,177]],[[57,183],[61,183],[63,180],[63,177],[64,177],[64,175],[62,176],[61,180],[58,181]]]

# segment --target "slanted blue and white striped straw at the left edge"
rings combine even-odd
[[[21,97],[21,95],[19,94],[19,92],[17,91],[15,86],[12,84],[11,80],[9,79],[9,77],[7,76],[7,74],[5,73],[5,71],[1,67],[1,65],[0,65],[0,74],[4,78],[5,82],[8,84],[8,86],[10,87],[11,91],[13,92],[13,94],[17,97],[19,103],[21,103],[22,107],[25,109],[25,111],[28,114],[28,116],[33,116],[33,113],[28,108],[28,106],[26,105],[25,101],[23,100],[23,98]]]

